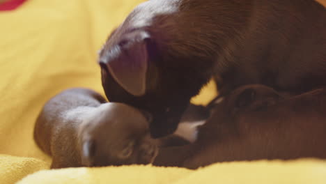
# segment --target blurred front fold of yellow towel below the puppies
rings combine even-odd
[[[97,169],[59,169],[39,171],[18,184],[26,183],[141,183],[141,184],[202,184],[202,183],[264,183],[264,184],[325,184],[326,162],[234,162],[214,164],[197,171],[181,168],[148,166],[104,167]]]

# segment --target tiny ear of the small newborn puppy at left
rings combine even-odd
[[[82,155],[81,155],[81,162],[86,167],[93,166],[94,157],[95,157],[95,141],[93,140],[86,140],[82,144]]]

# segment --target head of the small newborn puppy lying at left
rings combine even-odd
[[[84,166],[149,164],[157,155],[149,134],[150,118],[133,107],[107,103],[86,118],[79,130]]]

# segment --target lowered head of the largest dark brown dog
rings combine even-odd
[[[185,7],[179,0],[142,3],[100,52],[107,98],[150,112],[153,137],[176,130],[189,99],[210,79],[215,52],[207,40],[213,39],[202,33],[201,21],[184,20],[207,16]]]

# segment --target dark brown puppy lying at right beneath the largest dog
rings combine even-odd
[[[154,164],[326,158],[326,89],[284,99],[266,86],[236,89],[215,105],[193,144],[160,148]]]

